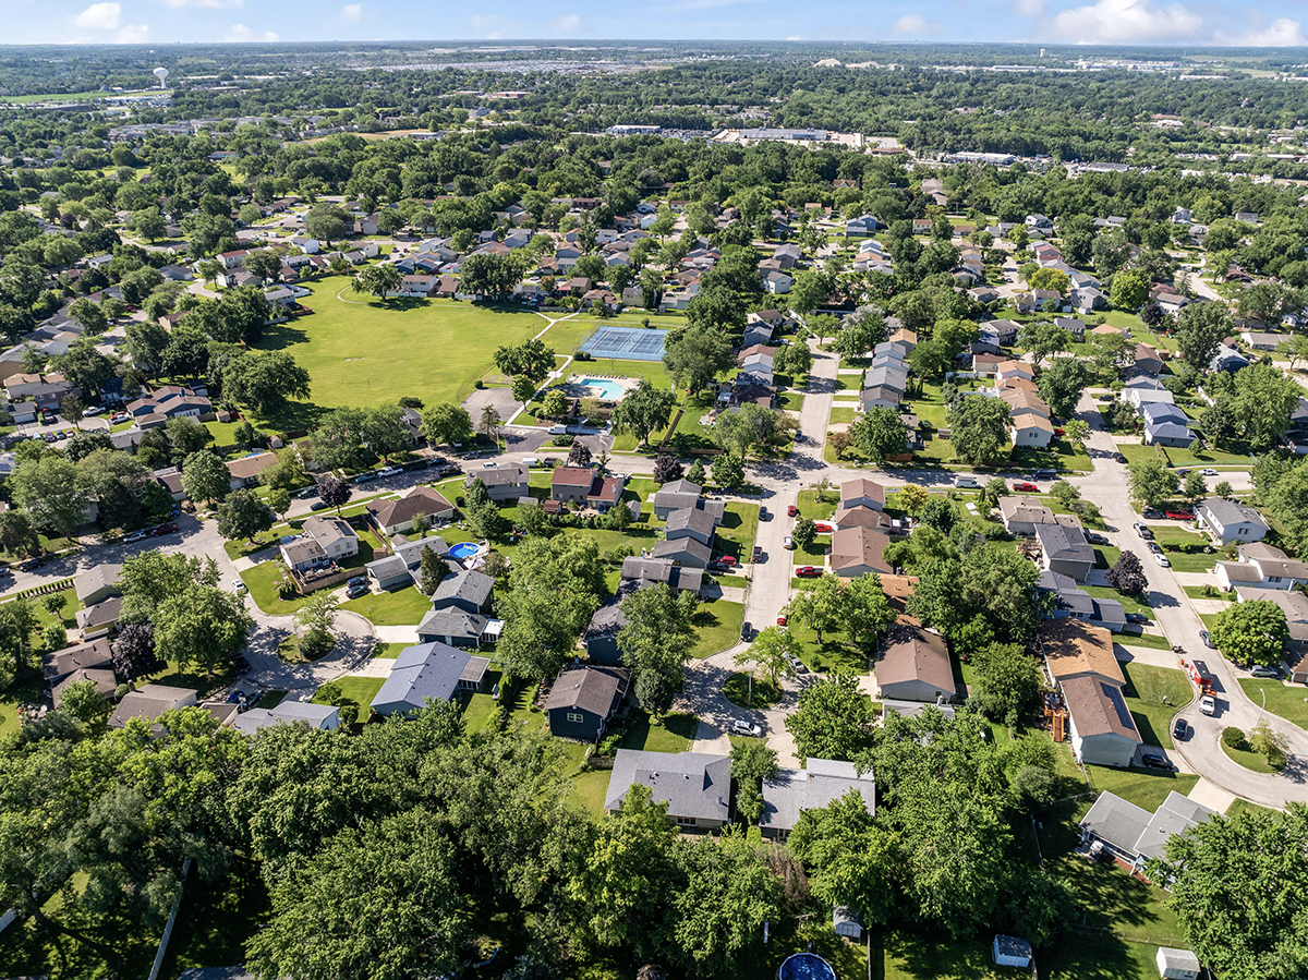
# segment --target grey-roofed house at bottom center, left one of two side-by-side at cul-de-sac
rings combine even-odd
[[[637,784],[649,788],[655,803],[667,803],[668,819],[679,827],[718,830],[731,815],[731,756],[619,748],[604,810],[621,810]]]

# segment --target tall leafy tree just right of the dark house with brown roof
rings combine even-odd
[[[651,714],[671,708],[681,687],[681,674],[695,646],[691,618],[697,602],[693,593],[674,595],[662,582],[621,602],[625,623],[617,632],[617,649],[636,680],[637,700]]]

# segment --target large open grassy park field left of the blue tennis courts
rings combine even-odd
[[[371,408],[404,395],[459,402],[490,366],[497,347],[521,344],[542,328],[542,319],[526,310],[456,301],[337,300],[348,285],[345,276],[309,284],[303,302],[313,314],[264,331],[259,349],[292,355],[309,372],[311,395],[262,421],[301,428],[339,406]]]

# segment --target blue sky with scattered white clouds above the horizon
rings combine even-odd
[[[0,0],[0,43],[704,39],[1308,44],[1304,0]]]

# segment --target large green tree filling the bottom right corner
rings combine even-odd
[[[1241,811],[1168,839],[1146,865],[1168,882],[1167,904],[1185,945],[1224,980],[1291,980],[1303,972],[1308,921],[1308,809]],[[1275,887],[1269,887],[1275,882]]]

